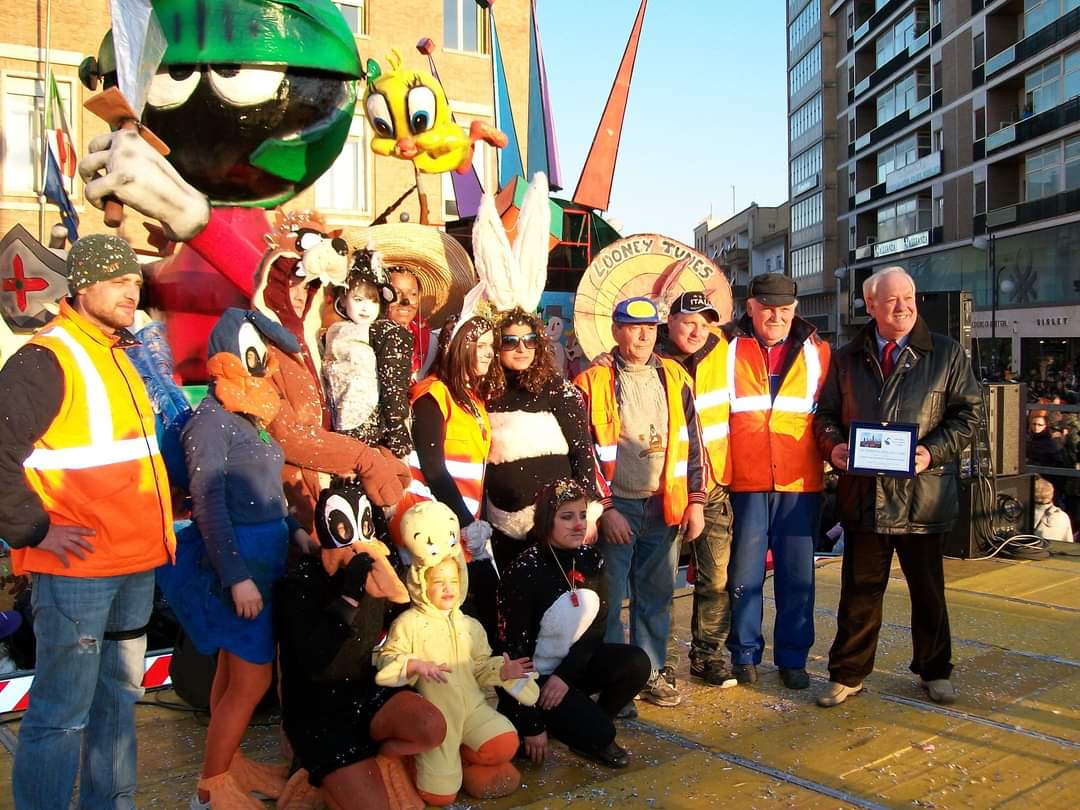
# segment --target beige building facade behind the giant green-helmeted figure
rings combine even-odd
[[[337,5],[356,36],[362,58],[374,57],[383,67],[386,55],[397,49],[406,66],[426,68],[427,57],[415,45],[421,38],[431,38],[457,120],[467,130],[473,119],[495,122],[489,12],[475,0],[341,0]],[[97,54],[109,28],[109,4],[106,0],[12,0],[6,8],[6,24],[0,32],[0,234],[19,222],[42,238],[59,220],[55,206],[39,198],[46,59],[57,78],[81,157],[91,138],[106,131],[104,123],[83,110],[92,93],[79,83],[78,68],[83,57]],[[496,14],[512,104],[515,111],[524,111],[528,102],[529,2],[504,0]],[[288,207],[315,207],[333,225],[366,225],[416,183],[410,163],[372,153],[370,130],[359,105],[356,113],[337,161]],[[524,130],[521,134],[524,137]],[[474,164],[485,187],[492,188],[498,180],[494,151],[481,144]],[[421,176],[421,187],[428,194],[432,221],[456,216],[448,176]],[[106,230],[102,215],[85,203],[78,178],[72,202],[81,218],[81,233]],[[396,220],[403,213],[413,221],[419,220],[416,193],[405,197],[392,218]],[[137,217],[129,216],[121,233],[137,248],[148,248]]]

